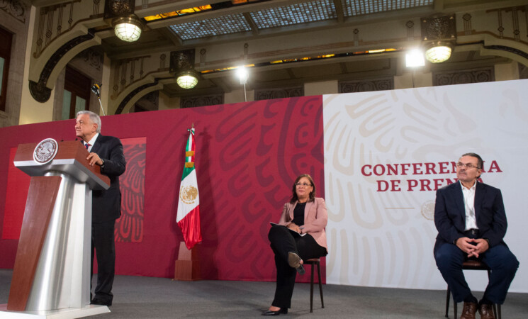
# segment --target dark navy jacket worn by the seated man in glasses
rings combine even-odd
[[[488,239],[490,247],[504,243],[502,238],[506,235],[507,221],[500,189],[477,181],[474,206],[480,237]],[[466,237],[466,211],[459,181],[437,191],[434,225],[438,230],[435,252],[444,242],[452,244],[456,239]]]

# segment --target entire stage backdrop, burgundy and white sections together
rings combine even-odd
[[[435,190],[456,181],[460,155],[477,152],[483,182],[502,189],[505,241],[520,262],[510,291],[528,292],[527,87],[517,80],[103,116],[103,134],[123,141],[128,161],[116,274],[174,276],[182,240],[176,181],[184,167],[176,155],[195,123],[203,279],[275,280],[269,222],[279,220],[296,176],[308,173],[328,208],[328,283],[446,289],[432,254]],[[27,196],[9,168],[16,147],[73,140],[73,126],[0,128],[0,268],[13,267],[13,225],[21,222],[14,211]],[[466,277],[484,289],[485,272]]]

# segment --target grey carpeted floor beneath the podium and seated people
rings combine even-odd
[[[11,270],[0,269],[0,304],[7,303],[11,275]],[[323,285],[323,309],[314,288],[313,313],[310,284],[296,284],[292,308],[281,317],[444,318],[446,291]],[[111,313],[91,318],[264,318],[260,313],[271,304],[274,289],[271,282],[116,276]],[[458,308],[460,315],[461,303]],[[452,301],[449,318],[453,318]],[[528,318],[528,293],[509,293],[502,318]]]

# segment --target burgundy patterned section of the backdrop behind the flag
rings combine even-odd
[[[324,196],[321,96],[103,117],[103,135],[139,138],[130,144],[137,157],[127,157],[128,169],[133,163],[135,173],[125,181],[130,194],[123,194],[128,198],[123,206],[130,205],[133,213],[123,215],[129,221],[116,229],[116,236],[130,240],[116,242],[116,273],[174,276],[182,240],[176,207],[191,123],[196,128],[202,278],[273,281],[269,221],[279,220],[293,180],[311,174],[318,196]],[[0,129],[2,225],[10,149],[44,138],[73,140],[74,121]],[[144,202],[135,199],[142,187]],[[144,216],[134,213],[141,205]],[[13,267],[17,242],[0,240],[1,268]],[[308,281],[308,276],[299,277]]]

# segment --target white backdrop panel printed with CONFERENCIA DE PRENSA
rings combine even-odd
[[[323,96],[327,282],[446,289],[432,254],[435,190],[476,152],[483,182],[502,190],[520,262],[510,291],[528,292],[527,101],[528,80]],[[485,272],[466,278],[485,288]]]

